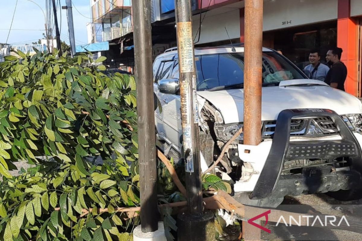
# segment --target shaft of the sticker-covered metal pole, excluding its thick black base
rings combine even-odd
[[[175,0],[175,7],[188,210],[191,215],[201,216],[203,206],[191,1]]]

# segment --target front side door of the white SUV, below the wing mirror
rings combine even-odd
[[[179,78],[178,63],[175,60],[173,70],[169,78]],[[164,129],[166,137],[173,143],[179,150],[182,146],[182,128],[181,128],[181,99],[180,93],[164,94]]]

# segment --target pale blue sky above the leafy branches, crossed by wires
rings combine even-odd
[[[32,0],[39,4],[45,12],[46,0]],[[55,1],[56,3],[58,0]],[[0,0],[0,43],[5,43],[8,31],[10,28],[11,19],[13,17],[14,7],[16,0]],[[90,7],[89,0],[72,0],[73,4],[73,20],[74,20],[74,32],[76,45],[87,43],[87,22],[91,22],[90,19]],[[66,0],[60,0],[60,5],[65,6]],[[79,10],[81,14],[77,12]],[[62,29],[60,32],[60,39],[69,43],[68,39],[68,26],[67,26],[67,15],[66,10],[58,10],[58,24],[60,26],[60,11],[62,11]],[[18,0],[16,8],[12,31],[10,31],[8,43],[10,44],[25,44],[31,42],[37,42],[38,39],[42,38],[44,30],[44,15],[42,10],[31,3],[28,0]],[[17,30],[21,29],[21,30]],[[31,30],[24,30],[31,29]],[[54,30],[55,33],[55,30]]]

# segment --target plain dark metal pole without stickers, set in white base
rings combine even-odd
[[[150,0],[132,0],[142,232],[158,229]]]

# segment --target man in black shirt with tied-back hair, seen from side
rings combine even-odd
[[[344,82],[347,78],[347,67],[341,62],[343,50],[341,48],[332,48],[328,50],[325,59],[331,66],[325,77],[325,83],[331,87],[344,91]]]

